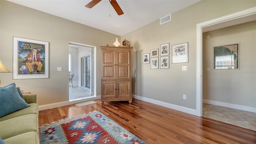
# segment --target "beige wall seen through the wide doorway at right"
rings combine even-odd
[[[213,46],[234,43],[240,43],[240,69],[213,70]],[[203,56],[204,99],[256,107],[256,21],[205,32]]]

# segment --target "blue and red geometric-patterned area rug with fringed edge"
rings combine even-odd
[[[41,144],[146,144],[98,111],[44,124],[40,133]]]

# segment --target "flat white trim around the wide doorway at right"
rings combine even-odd
[[[202,116],[202,28],[256,14],[256,7],[196,24],[196,115]]]

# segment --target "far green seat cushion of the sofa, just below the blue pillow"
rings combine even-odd
[[[3,120],[8,120],[10,118],[15,118],[17,116],[22,116],[25,114],[38,114],[38,104],[31,103],[29,105],[30,105],[30,107],[24,108],[22,110],[18,110],[16,112],[12,112],[10,114],[7,114],[6,116],[1,117],[0,122]]]

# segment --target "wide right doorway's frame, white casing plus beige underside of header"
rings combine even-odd
[[[256,10],[249,8],[227,16],[202,22],[196,25],[196,115],[202,116],[202,34],[210,30],[234,26],[256,20]]]

